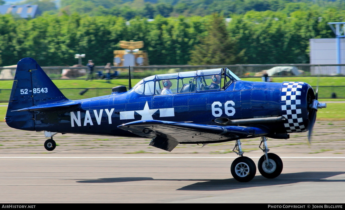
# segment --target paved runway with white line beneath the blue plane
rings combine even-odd
[[[275,179],[250,182],[230,172],[234,142],[178,145],[171,153],[149,139],[58,134],[53,151],[43,133],[0,123],[1,203],[344,203],[345,122],[318,122],[307,133],[269,139],[284,163]],[[260,139],[242,141],[257,161]]]

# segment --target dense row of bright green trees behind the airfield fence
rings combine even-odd
[[[336,9],[214,13],[154,21],[113,15],[43,14],[34,19],[0,15],[0,65],[32,57],[41,66],[73,65],[86,54],[96,65],[112,62],[119,41],[144,41],[151,65],[308,63],[309,39],[332,38],[328,22],[344,22]],[[84,62],[85,64],[85,62]]]

